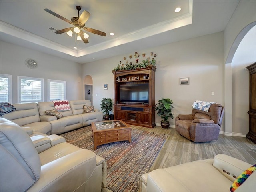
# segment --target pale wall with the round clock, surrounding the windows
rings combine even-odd
[[[26,67],[32,58],[38,67]],[[17,76],[44,78],[44,101],[47,101],[47,79],[66,81],[67,100],[82,99],[82,65],[36,50],[1,41],[0,73],[12,75],[12,102],[17,103]]]

